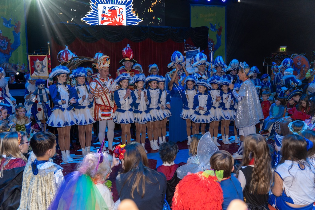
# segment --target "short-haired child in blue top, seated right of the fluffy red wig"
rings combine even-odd
[[[220,182],[223,191],[222,208],[226,210],[230,202],[234,199],[243,200],[243,189],[241,183],[231,172],[234,170],[234,158],[225,151],[216,151],[210,158],[211,169],[215,171],[223,170],[223,179]]]

